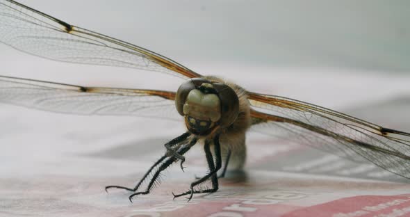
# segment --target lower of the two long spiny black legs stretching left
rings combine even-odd
[[[188,152],[188,150],[190,150],[190,148],[191,148],[193,145],[195,145],[195,143],[197,143],[197,138],[192,138],[192,140],[190,141],[190,143],[187,144],[186,146],[181,147],[181,149],[180,149],[177,153],[178,153],[178,154],[181,154],[181,155],[185,154],[186,152]],[[148,193],[152,190],[152,188],[153,188],[153,186],[154,186],[154,184],[155,184],[155,182],[156,182],[156,179],[158,179],[158,177],[159,177],[159,175],[161,174],[161,172],[162,172],[163,170],[165,170],[166,168],[168,168],[168,167],[169,167],[172,163],[174,163],[175,161],[177,161],[177,157],[171,156],[170,159],[167,159],[167,161],[165,161],[163,164],[161,164],[161,166],[158,168],[158,170],[156,170],[156,172],[155,172],[154,175],[152,176],[151,181],[149,181],[149,184],[148,184],[146,190],[145,190],[145,191],[139,191],[139,192],[137,192],[137,193],[133,193],[132,195],[129,196],[129,200],[132,202],[132,198],[133,198],[134,196],[136,196],[136,195],[146,195],[146,194],[148,194]]]

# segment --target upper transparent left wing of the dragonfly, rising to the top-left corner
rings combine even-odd
[[[183,79],[200,77],[152,51],[72,26],[11,0],[0,0],[0,42],[55,61],[131,67]]]

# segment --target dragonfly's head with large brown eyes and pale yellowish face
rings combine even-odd
[[[206,136],[215,127],[229,127],[238,117],[239,100],[224,83],[195,78],[183,83],[175,99],[180,115],[192,134]]]

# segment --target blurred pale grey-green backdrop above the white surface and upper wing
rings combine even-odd
[[[407,73],[409,1],[21,1],[195,62],[353,67]]]

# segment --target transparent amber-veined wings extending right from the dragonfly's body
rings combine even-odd
[[[285,97],[248,93],[248,99],[254,131],[287,136],[353,161],[366,159],[410,179],[409,133]]]

